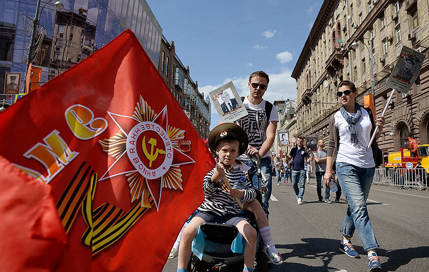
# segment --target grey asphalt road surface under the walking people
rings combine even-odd
[[[290,183],[277,186],[273,178],[270,225],[274,242],[285,262],[272,272],[360,272],[368,270],[365,251],[357,233],[352,238],[360,259],[338,251],[339,227],[347,203],[317,202],[315,179],[306,184],[303,204],[298,205]],[[324,192],[324,190],[322,190]],[[333,200],[334,193],[331,193]],[[429,270],[429,192],[386,186],[371,187],[368,212],[380,244],[376,250],[383,271]],[[177,258],[163,271],[176,271]]]

